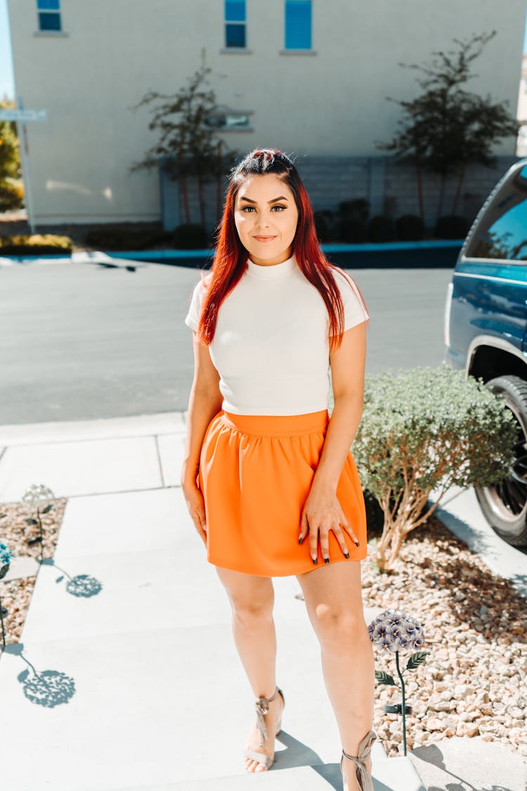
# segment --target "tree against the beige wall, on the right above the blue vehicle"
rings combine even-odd
[[[398,125],[401,130],[391,142],[376,142],[379,149],[393,151],[399,161],[416,166],[417,191],[421,217],[424,218],[422,169],[438,173],[441,177],[437,217],[442,214],[445,184],[448,176],[457,174],[457,189],[452,206],[456,214],[467,167],[471,162],[493,167],[497,159],[491,151],[496,142],[510,135],[518,135],[518,120],[511,115],[508,101],[494,103],[486,98],[461,89],[461,85],[476,74],[470,73],[470,64],[483,50],[496,32],[473,35],[471,39],[458,40],[458,51],[435,51],[439,62],[431,66],[416,63],[399,63],[416,69],[426,77],[418,79],[423,93],[412,101],[395,100],[404,110],[405,118]]]

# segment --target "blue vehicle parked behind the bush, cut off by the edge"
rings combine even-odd
[[[488,524],[527,545],[527,159],[495,186],[469,229],[446,293],[444,361],[501,392],[518,421],[515,461],[475,488]]]

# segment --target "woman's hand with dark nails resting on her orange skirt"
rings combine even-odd
[[[344,541],[342,528],[351,536],[358,547],[359,542],[357,537],[344,516],[344,511],[337,499],[337,494],[333,486],[329,486],[327,483],[318,482],[317,479],[314,479],[310,493],[303,506],[299,543],[302,543],[307,533],[309,533],[311,558],[315,561],[318,557],[318,534],[320,534],[322,558],[324,558],[326,562],[329,562],[329,530],[333,530],[342,553],[344,557],[346,557],[348,556],[348,547]],[[328,559],[326,560],[326,558]]]

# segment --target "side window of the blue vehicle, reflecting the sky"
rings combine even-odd
[[[527,260],[527,165],[506,181],[469,241],[467,258]]]

